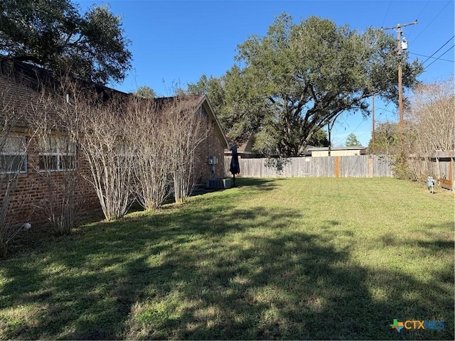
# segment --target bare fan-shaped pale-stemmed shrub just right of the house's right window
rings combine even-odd
[[[73,92],[77,141],[107,220],[123,217],[134,202],[134,145],[125,114],[126,99],[115,92]]]

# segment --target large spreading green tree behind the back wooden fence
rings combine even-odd
[[[412,88],[422,65],[407,63],[407,51],[402,58],[402,84]],[[236,60],[208,80],[210,102],[232,140],[255,132],[257,144],[281,156],[299,156],[343,112],[367,116],[373,94],[398,99],[397,41],[375,28],[359,33],[314,16],[294,24],[283,13],[266,36],[240,44]]]

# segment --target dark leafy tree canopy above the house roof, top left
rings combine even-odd
[[[70,0],[0,2],[0,53],[16,60],[105,84],[131,68],[128,44],[107,5],[81,15]]]

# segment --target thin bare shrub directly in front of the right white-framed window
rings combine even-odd
[[[62,77],[62,82],[68,78]],[[80,172],[77,167],[76,141],[73,129],[73,109],[65,94],[42,86],[33,101],[28,126],[36,131],[39,164],[36,172],[45,182],[46,193],[37,206],[45,212],[54,234],[70,234],[80,213],[80,198],[76,195]]]

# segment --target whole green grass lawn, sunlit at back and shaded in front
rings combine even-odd
[[[450,191],[236,183],[70,237],[22,233],[0,261],[0,339],[454,340]]]

